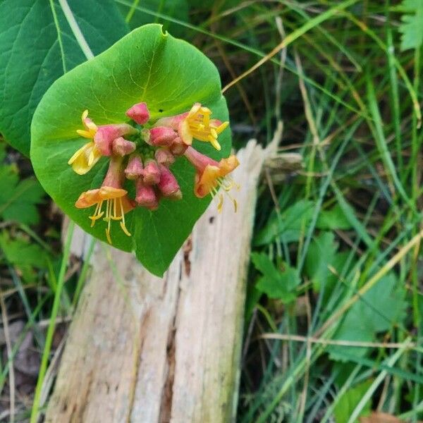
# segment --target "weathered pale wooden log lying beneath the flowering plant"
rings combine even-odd
[[[164,278],[97,245],[47,422],[231,422],[257,180],[269,148],[240,150],[231,202],[211,204]]]

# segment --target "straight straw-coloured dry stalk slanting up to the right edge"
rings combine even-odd
[[[364,286],[362,286],[362,288],[360,288],[360,290],[358,290],[358,292],[353,295],[353,297],[350,298],[350,300],[345,302],[345,304],[340,309],[338,309],[338,311],[335,312],[332,317],[326,320],[323,326],[321,326],[321,328],[316,331],[316,333],[314,333],[314,336],[319,337],[321,333],[326,331],[326,329],[328,329],[337,319],[339,319],[339,317],[341,317],[360,297],[362,297],[362,295],[367,293],[367,291],[372,288],[372,286],[374,286],[376,282],[378,282],[382,277],[384,277],[388,273],[388,271],[390,271],[393,266],[395,266],[400,261],[400,259],[402,259],[407,254],[407,252],[412,249],[412,247],[417,245],[420,240],[422,240],[422,238],[423,230],[417,233],[417,235],[415,235],[409,243],[404,245],[404,247],[401,248],[401,250],[398,251],[396,255],[394,255],[385,264],[385,266],[383,266],[379,271],[377,271],[376,274],[374,274],[374,276],[372,276],[372,278],[370,278],[369,281],[365,283]]]

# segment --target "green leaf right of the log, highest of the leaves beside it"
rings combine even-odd
[[[300,239],[302,226],[312,218],[313,203],[307,200],[300,200],[281,212],[278,216],[276,211],[271,212],[269,220],[257,233],[254,245],[266,245],[272,243],[276,237],[281,236],[286,243],[292,243]]]

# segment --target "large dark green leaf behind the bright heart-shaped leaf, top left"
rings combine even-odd
[[[128,32],[113,0],[73,0],[69,6],[93,54]],[[7,142],[29,156],[39,100],[54,80],[85,60],[57,1],[0,1],[0,133]]]

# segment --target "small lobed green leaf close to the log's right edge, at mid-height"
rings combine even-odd
[[[251,259],[255,268],[262,274],[256,288],[269,298],[277,298],[284,303],[291,302],[297,297],[295,288],[300,283],[298,270],[283,264],[283,269],[276,269],[274,263],[264,252],[254,252]]]

